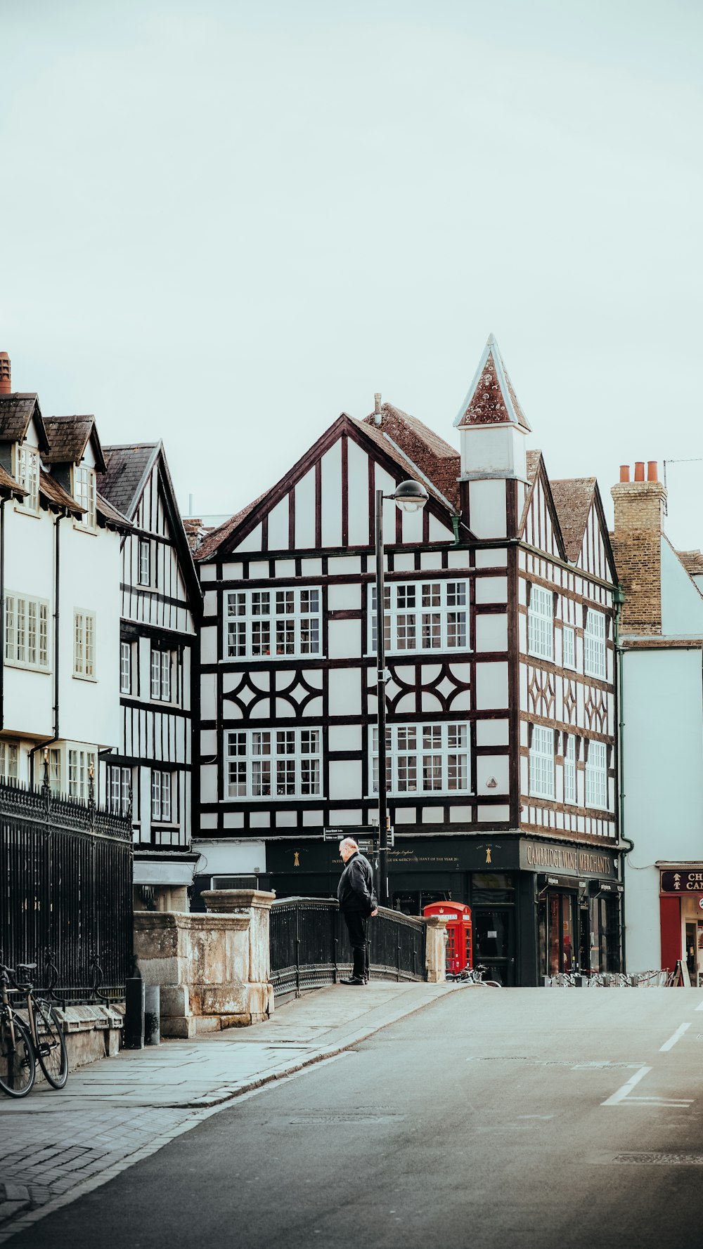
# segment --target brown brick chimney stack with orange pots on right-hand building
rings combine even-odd
[[[610,490],[615,505],[613,553],[625,601],[623,633],[662,632],[662,532],[667,491],[658,481],[657,462],[620,467],[620,480]]]

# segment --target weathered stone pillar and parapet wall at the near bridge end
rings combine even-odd
[[[161,987],[164,1037],[269,1018],[273,899],[261,891],[223,889],[205,894],[205,916],[135,912],[135,955],[146,984]]]

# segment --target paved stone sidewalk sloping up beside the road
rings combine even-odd
[[[0,1102],[0,1244],[218,1113],[233,1098],[333,1058],[453,984],[330,985],[251,1028],[123,1050]],[[38,1229],[38,1245],[41,1244]]]

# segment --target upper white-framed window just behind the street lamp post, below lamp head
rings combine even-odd
[[[388,582],[384,587],[385,649],[465,651],[469,590],[465,581]],[[377,648],[377,588],[370,587],[369,649]]]

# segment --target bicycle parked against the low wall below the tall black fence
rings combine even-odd
[[[18,968],[0,963],[0,1088],[9,1097],[26,1097],[31,1092],[39,1063],[51,1088],[63,1089],[69,1078],[66,1039],[56,1012],[45,998],[34,995],[28,972],[36,963],[19,963]],[[24,973],[23,982],[15,975]],[[25,1023],[11,993],[20,993],[26,1004]]]

